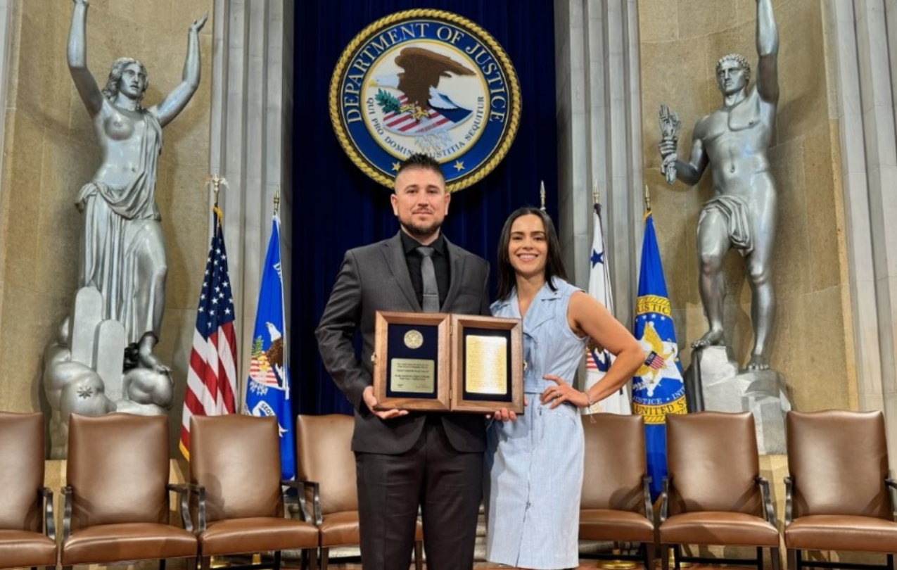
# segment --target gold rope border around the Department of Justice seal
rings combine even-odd
[[[501,145],[499,145],[498,149],[492,153],[492,158],[489,159],[489,161],[485,162],[477,171],[460,180],[448,184],[448,186],[446,187],[448,192],[455,192],[456,190],[466,189],[469,186],[473,186],[480,180],[483,180],[486,174],[492,172],[495,167],[499,165],[499,163],[508,153],[511,143],[514,142],[514,137],[517,136],[517,130],[520,126],[520,82],[518,81],[517,72],[514,70],[514,66],[511,64],[508,54],[506,54],[504,49],[501,48],[499,42],[492,38],[492,34],[490,34],[488,31],[483,30],[483,28],[481,28],[474,22],[467,20],[463,16],[457,15],[457,13],[446,12],[445,10],[418,8],[414,10],[404,10],[402,12],[396,12],[369,24],[364,30],[359,32],[352,41],[349,42],[348,46],[345,47],[345,49],[343,50],[343,54],[336,62],[334,74],[330,77],[330,90],[328,96],[330,122],[333,124],[334,132],[336,134],[336,138],[339,140],[340,146],[343,147],[344,152],[349,156],[352,162],[354,162],[355,166],[361,169],[361,171],[364,172],[370,179],[379,182],[387,188],[392,188],[394,179],[388,176],[384,176],[379,171],[371,168],[369,163],[364,160],[361,154],[359,154],[355,150],[354,146],[349,141],[349,136],[346,133],[346,129],[343,124],[343,117],[339,112],[337,101],[339,99],[339,87],[345,67],[348,64],[349,57],[351,57],[355,53],[355,49],[358,48],[361,43],[370,39],[371,34],[374,31],[378,31],[381,28],[387,28],[388,26],[391,26],[396,22],[413,20],[414,18],[439,18],[444,21],[456,24],[459,27],[464,27],[469,31],[473,31],[476,35],[479,36],[478,39],[482,40],[492,50],[492,53],[495,55],[495,57],[498,57],[498,59],[501,61],[502,69],[508,75],[508,83],[511,95],[511,112],[509,113],[509,120],[507,126],[505,127],[505,132],[503,133],[504,136],[502,136],[503,142],[501,143]]]

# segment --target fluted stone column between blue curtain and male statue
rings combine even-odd
[[[643,214],[637,1],[555,0],[554,26],[564,263],[588,287],[597,183],[615,316],[631,328]]]

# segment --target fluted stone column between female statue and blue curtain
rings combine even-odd
[[[290,303],[293,10],[292,0],[215,0],[209,162],[211,171],[228,181],[219,203],[237,309],[240,408],[278,189],[283,281]],[[209,200],[211,205],[211,189]]]

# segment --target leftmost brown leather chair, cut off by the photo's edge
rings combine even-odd
[[[53,492],[44,487],[44,418],[0,412],[0,568],[56,562]]]

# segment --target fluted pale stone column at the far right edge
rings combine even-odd
[[[897,0],[825,0],[835,56],[860,409],[884,410],[897,466]]]

